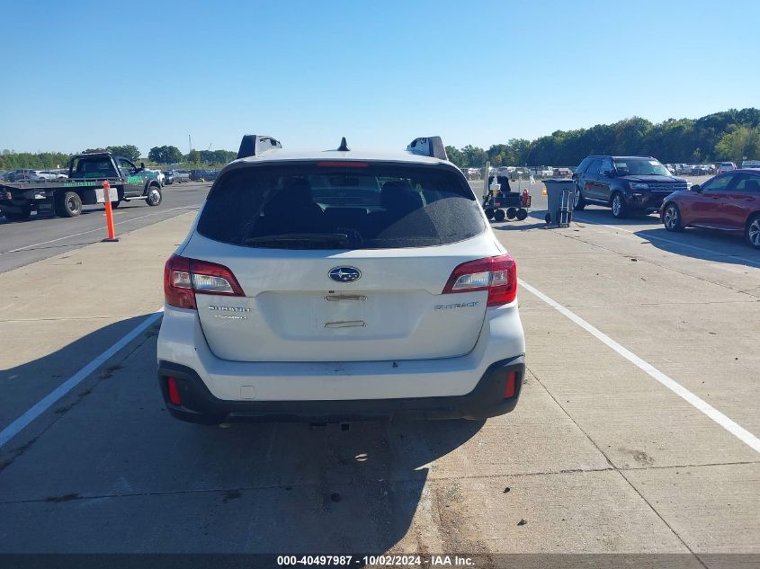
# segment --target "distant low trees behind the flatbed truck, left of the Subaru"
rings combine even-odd
[[[85,148],[83,152],[112,152],[116,156],[123,156],[132,162],[138,162],[140,158],[139,148],[131,145],[112,145],[105,148]],[[72,155],[61,152],[13,152],[3,150],[0,153],[0,170],[17,170],[28,168],[30,170],[46,170],[65,168]],[[148,151],[148,160],[154,164],[187,164],[187,165],[221,165],[232,162],[237,157],[237,152],[230,150],[191,150],[183,155],[179,148],[173,146],[152,147]]]

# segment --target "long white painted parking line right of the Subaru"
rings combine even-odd
[[[595,328],[593,325],[590,325],[589,323],[586,322],[586,320],[584,320],[580,316],[577,316],[577,314],[575,314],[574,312],[571,312],[570,310],[568,310],[568,308],[563,307],[556,300],[553,300],[547,297],[545,294],[541,292],[541,290],[533,288],[531,285],[529,285],[527,282],[525,282],[522,279],[518,279],[518,282],[520,283],[520,286],[523,287],[523,289],[528,290],[528,292],[532,293],[535,297],[541,298],[541,300],[543,300],[550,307],[557,310],[561,315],[567,316],[571,321],[573,321],[574,323],[579,325],[581,328],[586,330],[586,332],[591,333],[597,340],[605,343],[607,346],[612,348],[612,350],[617,351],[623,358],[625,358],[626,360],[629,360],[637,368],[641,369],[646,374],[648,374],[649,377],[657,379],[657,381],[659,381],[662,385],[670,389],[673,393],[675,393],[675,395],[681,397],[688,404],[693,405],[695,408],[702,411],[702,413],[706,414],[714,422],[717,422],[726,431],[729,431],[732,435],[737,437],[738,440],[741,440],[742,442],[746,443],[749,447],[754,449],[756,452],[760,452],[760,439],[758,439],[751,432],[747,431],[747,429],[739,425],[737,422],[732,421],[731,419],[729,419],[729,417],[727,417],[723,413],[720,413],[720,411],[718,411],[715,407],[713,407],[706,401],[702,400],[700,397],[695,396],[691,391],[686,389],[681,384],[677,383],[675,380],[668,378],[662,371],[655,368],[653,365],[649,364],[648,362],[642,360],[635,353],[623,348],[621,344],[612,340],[610,336],[608,336],[604,332],[601,332],[600,330]]]

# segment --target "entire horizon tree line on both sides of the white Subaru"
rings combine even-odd
[[[140,156],[134,145],[107,149],[133,162]],[[668,119],[657,124],[633,117],[590,129],[556,130],[535,140],[510,138],[487,150],[472,145],[446,147],[446,153],[460,167],[478,168],[487,160],[495,166],[575,166],[593,154],[654,156],[665,164],[723,160],[738,163],[745,158],[760,159],[760,110],[729,109],[701,119]],[[236,156],[236,152],[229,150],[191,150],[183,155],[173,146],[152,147],[148,151],[148,160],[155,164],[221,165]],[[69,157],[59,152],[4,150],[0,154],[0,169],[64,167]]]

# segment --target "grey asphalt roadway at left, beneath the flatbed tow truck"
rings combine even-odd
[[[166,185],[164,200],[155,208],[143,200],[122,201],[113,212],[116,235],[197,210],[209,188],[210,183],[201,182]],[[38,218],[32,214],[29,220],[14,223],[0,217],[0,272],[97,243],[105,236],[103,205],[85,206],[76,218]]]

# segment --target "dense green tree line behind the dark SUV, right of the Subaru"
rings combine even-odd
[[[526,140],[512,138],[487,150],[446,147],[460,167],[492,165],[575,166],[589,155],[654,156],[665,164],[760,159],[760,110],[730,109],[701,119],[668,119],[657,124],[633,117],[590,129],[556,130]]]

